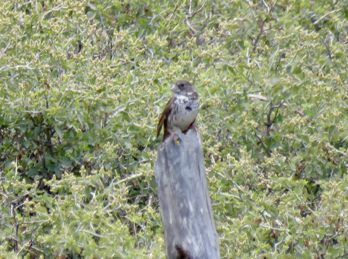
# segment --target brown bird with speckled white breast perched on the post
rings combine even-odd
[[[162,126],[164,128],[162,142],[169,134],[175,135],[177,130],[187,131],[195,122],[199,109],[197,90],[188,81],[176,81],[171,91],[174,95],[168,100],[157,126],[157,137]]]

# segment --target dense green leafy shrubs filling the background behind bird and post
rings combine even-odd
[[[0,10],[0,258],[164,258],[155,135],[180,78],[221,258],[348,258],[348,1]]]

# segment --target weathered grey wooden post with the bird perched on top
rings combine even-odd
[[[158,148],[155,164],[167,259],[220,259],[200,134],[178,133]]]

